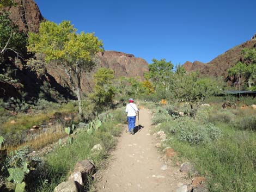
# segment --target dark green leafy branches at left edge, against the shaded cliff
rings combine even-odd
[[[4,1],[5,2],[5,1]],[[1,6],[1,4],[0,4]],[[0,14],[0,56],[7,51],[17,54],[26,53],[26,35],[11,22],[7,12]]]

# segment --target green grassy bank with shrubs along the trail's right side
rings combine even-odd
[[[161,121],[158,127],[167,133],[167,145],[180,159],[193,163],[207,178],[210,191],[256,191],[256,110],[217,105],[200,108],[196,120],[174,120],[164,113],[168,108],[182,110],[166,106],[154,114],[153,121]]]

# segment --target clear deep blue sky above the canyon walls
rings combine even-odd
[[[35,0],[42,15],[95,32],[105,50],[204,63],[256,33],[256,0]]]

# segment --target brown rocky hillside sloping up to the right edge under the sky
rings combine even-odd
[[[218,55],[218,57],[211,60],[209,63],[203,64],[199,61],[191,63],[187,61],[183,66],[185,67],[186,71],[199,70],[202,75],[210,75],[214,77],[222,76],[227,78],[228,69],[242,59],[242,49],[253,47],[256,48],[256,34],[252,37],[251,40],[237,45],[225,53]]]

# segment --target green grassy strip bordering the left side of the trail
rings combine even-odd
[[[117,141],[115,137],[122,131],[122,127],[117,125],[126,121],[123,113],[123,110],[115,110],[114,119],[102,123],[99,131],[89,135],[86,130],[81,130],[72,145],[58,147],[53,153],[48,154],[44,158],[41,180],[38,181],[39,183],[30,184],[28,191],[52,192],[60,182],[68,178],[69,172],[79,160],[91,159],[96,168],[99,168],[106,159],[108,151],[114,147]],[[103,150],[92,152],[91,149],[96,144],[101,144]]]

